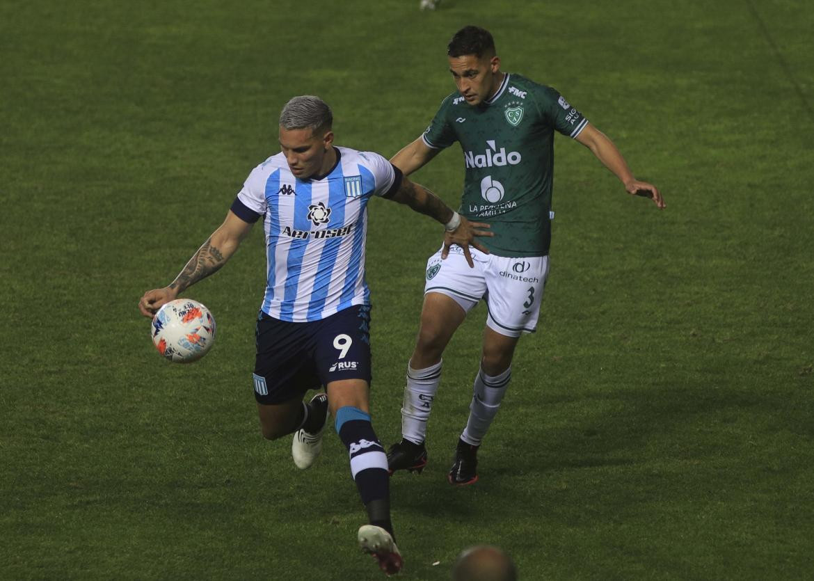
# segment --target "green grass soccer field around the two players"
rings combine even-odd
[[[166,364],[136,304],[276,151],[295,94],[340,145],[392,155],[453,90],[444,49],[492,30],[667,210],[558,138],[540,326],[480,452],[445,482],[484,308],[444,358],[430,465],[392,479],[403,579],[497,544],[521,579],[814,575],[814,7],[791,0],[0,4],[0,578],[379,579],[330,431],[306,474],[260,437],[260,229],[186,293],[213,351]],[[416,180],[457,203],[460,151]],[[374,426],[400,430],[439,227],[370,204]],[[436,564],[438,563],[438,564]]]

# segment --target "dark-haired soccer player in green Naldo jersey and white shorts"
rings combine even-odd
[[[409,175],[442,149],[461,144],[464,191],[459,212],[491,225],[488,252],[444,244],[427,262],[421,326],[407,368],[400,443],[387,454],[390,473],[427,464],[427,420],[441,375],[441,356],[466,313],[485,299],[480,369],[449,483],[475,483],[477,451],[511,378],[514,347],[536,328],[551,241],[554,131],[575,139],[605,164],[628,194],[664,208],[659,190],[633,177],[616,146],[557,90],[501,72],[492,35],[462,28],[449,42],[457,91],[441,103],[427,131],[391,159]],[[454,217],[454,216],[453,216]],[[470,266],[473,265],[474,266]]]

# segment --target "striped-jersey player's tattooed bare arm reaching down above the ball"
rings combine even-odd
[[[238,249],[251,229],[252,224],[241,220],[230,210],[223,224],[195,252],[173,282],[164,288],[144,293],[138,301],[138,310],[145,317],[152,317],[161,305],[175,299],[195,282],[216,273]]]

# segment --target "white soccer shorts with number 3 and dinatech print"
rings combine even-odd
[[[486,300],[486,325],[507,337],[533,333],[540,316],[548,256],[506,257],[484,254],[470,247],[475,268],[466,264],[463,249],[453,246],[441,260],[441,251],[427,260],[424,294],[439,292],[470,312],[480,299]]]

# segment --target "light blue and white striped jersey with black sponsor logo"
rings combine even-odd
[[[263,312],[281,321],[319,321],[370,304],[365,281],[367,202],[389,197],[401,173],[382,155],[335,147],[325,177],[300,180],[285,155],[272,155],[243,183],[232,211],[265,216],[267,282]]]

